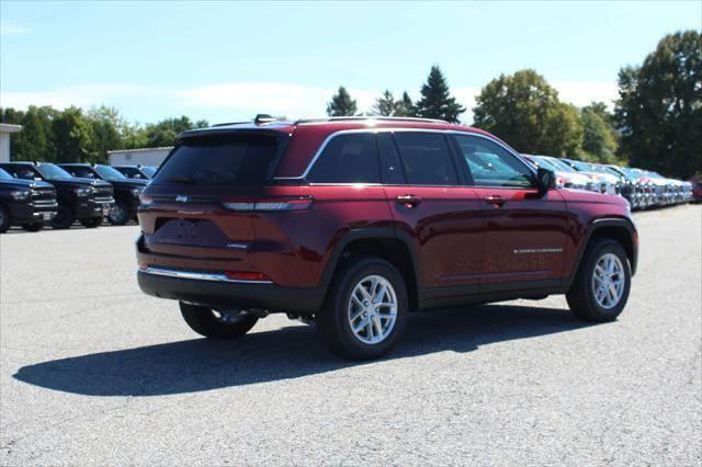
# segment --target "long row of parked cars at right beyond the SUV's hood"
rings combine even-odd
[[[666,179],[649,170],[551,156],[523,156],[534,167],[553,171],[556,174],[557,186],[623,196],[629,201],[632,209],[702,200],[702,193],[697,196],[691,182]]]

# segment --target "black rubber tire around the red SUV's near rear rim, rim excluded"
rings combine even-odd
[[[380,275],[386,278],[397,296],[397,317],[390,334],[377,344],[361,342],[348,319],[348,304],[353,288],[369,276]],[[344,267],[332,286],[325,309],[317,321],[327,344],[343,357],[352,360],[376,358],[385,354],[401,338],[407,327],[409,300],[407,286],[399,272],[388,262],[369,258],[361,259]]]

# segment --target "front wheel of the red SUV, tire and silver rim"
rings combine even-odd
[[[605,266],[610,264],[608,260],[612,261],[613,274],[607,272]],[[599,272],[596,271],[596,266]],[[596,278],[601,272],[612,278],[612,295],[609,292],[601,294],[602,291],[610,289],[607,287],[607,284],[610,284],[609,280],[600,282]],[[615,285],[620,280],[623,280],[621,288]],[[614,321],[626,305],[631,284],[632,271],[624,248],[614,240],[598,239],[588,247],[566,299],[570,310],[578,318],[596,322]],[[599,299],[596,294],[603,298]],[[613,296],[619,298],[614,300]]]

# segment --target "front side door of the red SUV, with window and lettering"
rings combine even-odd
[[[569,225],[563,196],[540,195],[526,163],[492,139],[453,138],[485,213],[482,291],[557,284]]]

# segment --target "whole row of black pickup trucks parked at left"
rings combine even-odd
[[[139,195],[149,172],[139,166],[122,170],[103,164],[14,161],[0,163],[0,232],[11,226],[36,231],[46,225],[69,228],[76,220],[94,228],[107,219],[136,219]],[[139,178],[125,174],[137,170]]]

